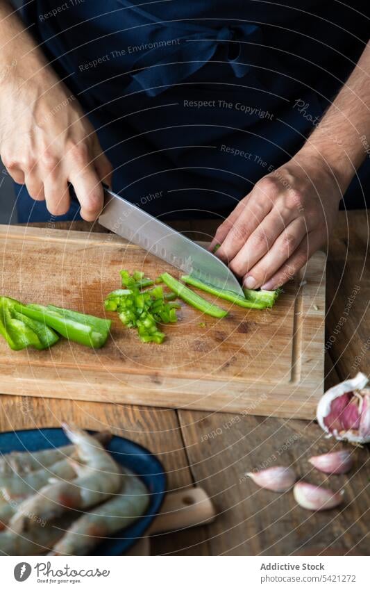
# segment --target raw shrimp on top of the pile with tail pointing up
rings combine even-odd
[[[98,441],[76,426],[63,425],[65,433],[76,444],[78,457],[85,465],[77,465],[78,477],[72,482],[54,482],[22,502],[9,526],[22,532],[32,525],[35,516],[51,521],[67,509],[85,509],[104,502],[115,494],[121,484],[121,470]]]

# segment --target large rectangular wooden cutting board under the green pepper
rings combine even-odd
[[[0,226],[1,293],[103,317],[119,270],[179,272],[118,236]],[[205,295],[209,300],[212,296]],[[325,256],[285,287],[274,309],[222,320],[182,305],[162,345],[144,344],[115,313],[101,350],[62,340],[13,352],[0,338],[1,393],[312,418],[323,393]],[[205,323],[205,327],[203,326]],[[235,417],[237,420],[237,417]]]

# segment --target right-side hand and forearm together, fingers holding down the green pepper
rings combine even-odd
[[[262,178],[210,249],[247,288],[283,285],[323,245],[370,143],[370,45],[301,151]]]

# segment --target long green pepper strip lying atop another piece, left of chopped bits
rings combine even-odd
[[[28,318],[46,324],[78,344],[100,348],[108,338],[110,320],[53,305],[16,304],[15,309]]]

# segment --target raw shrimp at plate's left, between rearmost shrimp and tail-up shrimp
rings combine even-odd
[[[74,462],[71,459],[62,459],[50,467],[30,471],[24,475],[15,474],[0,477],[0,492],[7,502],[9,500],[20,502],[48,484],[52,477],[73,480],[76,477]]]

